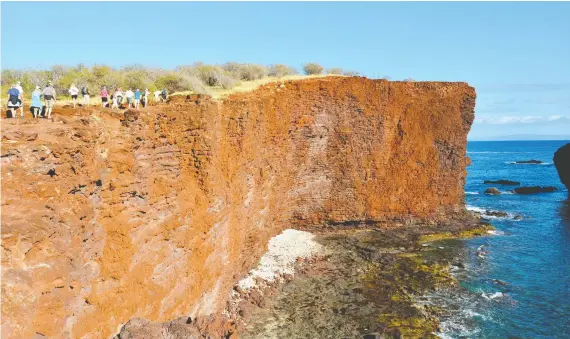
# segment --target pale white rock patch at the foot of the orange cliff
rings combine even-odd
[[[294,274],[297,258],[309,258],[323,248],[315,242],[315,235],[309,232],[286,229],[269,240],[268,251],[261,257],[259,265],[238,282],[243,290],[256,286],[261,279],[273,282],[284,274]]]

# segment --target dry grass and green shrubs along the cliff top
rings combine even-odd
[[[2,91],[15,82],[21,82],[25,93],[31,93],[36,85],[45,86],[53,81],[58,96],[67,96],[71,84],[78,87],[87,85],[92,94],[98,94],[102,86],[108,89],[116,87],[148,88],[151,91],[166,88],[169,93],[193,92],[219,96],[245,87],[257,87],[260,84],[280,79],[295,79],[305,76],[357,75],[340,68],[330,68],[327,72],[315,63],[303,66],[304,75],[294,67],[283,64],[258,65],[251,63],[228,62],[222,65],[195,62],[191,65],[178,66],[173,70],[144,67],[141,65],[113,68],[106,65],[86,67],[79,64],[74,67],[56,65],[44,70],[2,70]],[[27,98],[26,98],[27,99]]]

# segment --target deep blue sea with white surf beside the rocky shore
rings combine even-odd
[[[570,206],[552,164],[554,152],[568,142],[468,143],[466,205],[510,215],[491,220],[496,235],[443,246],[462,252],[467,263],[454,270],[462,291],[439,296],[448,298],[450,312],[442,319],[444,337],[570,338]],[[512,164],[529,159],[545,164]],[[518,195],[508,194],[512,186],[483,184],[498,179],[558,191]],[[507,194],[483,194],[491,186]]]

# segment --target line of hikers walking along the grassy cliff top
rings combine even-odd
[[[73,102],[73,108],[77,104],[77,97],[79,95],[79,89],[75,84],[72,84],[68,90],[71,95],[71,100]],[[165,102],[168,98],[168,91],[166,89],[155,91],[154,101]],[[91,105],[91,94],[87,86],[81,88],[81,95],[83,96],[83,106],[89,107]],[[143,107],[148,105],[150,91],[145,88],[144,91],[136,89],[133,91],[129,88],[125,93],[122,89],[116,88],[113,93],[109,93],[106,86],[103,86],[100,92],[101,95],[101,107],[109,107],[112,110],[122,108],[123,97],[127,100],[127,107],[139,109],[142,103]],[[43,97],[43,103],[42,103]],[[110,100],[110,103],[109,103]],[[32,103],[30,111],[32,112],[34,118],[51,118],[51,113],[53,106],[56,101],[56,93],[51,81],[42,90],[40,86],[36,86],[35,90],[32,92]],[[44,112],[45,107],[45,112]],[[21,83],[17,82],[13,84],[8,90],[8,110],[12,112],[12,117],[16,118],[18,116],[17,112],[20,110],[20,117],[24,118],[24,90],[22,89]]]

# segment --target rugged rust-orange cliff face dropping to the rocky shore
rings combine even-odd
[[[326,78],[5,121],[2,335],[217,313],[284,228],[449,216],[474,105],[463,83]]]

